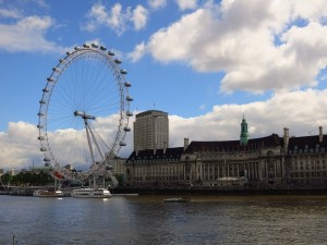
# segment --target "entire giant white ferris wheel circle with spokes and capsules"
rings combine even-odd
[[[37,127],[45,164],[56,177],[86,180],[108,169],[125,146],[133,99],[120,64],[106,47],[85,44],[52,69]]]

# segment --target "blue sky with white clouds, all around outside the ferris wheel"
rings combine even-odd
[[[0,168],[43,164],[41,89],[92,41],[123,60],[134,114],[169,113],[170,147],[238,139],[243,114],[252,138],[327,126],[325,0],[0,0]]]

